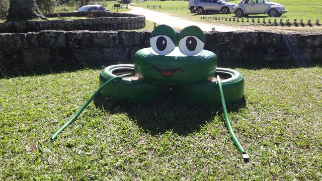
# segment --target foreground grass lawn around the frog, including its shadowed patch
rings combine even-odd
[[[229,117],[250,163],[234,147],[220,107],[173,97],[145,104],[98,97],[51,141],[96,90],[101,68],[6,76],[0,180],[322,179],[322,68],[236,69],[246,98],[228,106]]]

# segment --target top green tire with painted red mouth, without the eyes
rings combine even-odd
[[[152,48],[143,48],[134,55],[134,70],[138,77],[154,83],[187,85],[211,80],[217,66],[215,53],[202,50],[186,56],[176,47],[168,55],[157,55]]]

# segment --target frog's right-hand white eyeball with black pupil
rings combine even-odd
[[[205,43],[195,36],[185,36],[179,41],[180,51],[188,56],[197,55],[204,45]]]

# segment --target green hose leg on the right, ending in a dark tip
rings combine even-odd
[[[222,104],[222,111],[223,111],[223,115],[225,117],[225,121],[226,121],[226,127],[228,129],[228,132],[231,136],[231,139],[233,140],[233,142],[235,143],[237,149],[239,150],[239,152],[241,153],[241,156],[243,156],[243,159],[245,162],[249,162],[250,161],[250,156],[246,153],[245,149],[243,148],[243,146],[241,146],[241,144],[239,143],[235,133],[233,132],[231,125],[230,125],[230,121],[228,118],[228,113],[227,113],[227,108],[226,108],[226,103],[225,103],[225,98],[223,96],[223,91],[222,91],[222,87],[221,87],[221,81],[220,81],[220,77],[219,75],[217,75],[217,84],[219,87],[219,92],[220,92],[220,99],[221,99],[221,104]]]

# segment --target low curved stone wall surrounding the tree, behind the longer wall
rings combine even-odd
[[[82,16],[83,14],[87,14],[87,12],[64,13],[63,16],[68,16],[67,14],[77,14],[78,16]],[[56,14],[53,14],[53,16],[54,15],[57,16]],[[145,27],[144,16],[109,12],[97,12],[95,15],[102,17],[77,20],[22,21],[0,23],[0,33],[26,33],[39,32],[41,30],[134,30]]]

